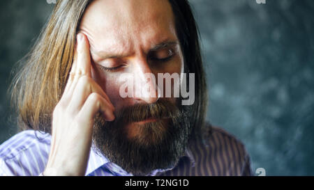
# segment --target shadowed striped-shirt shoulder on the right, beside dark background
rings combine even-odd
[[[220,127],[210,126],[206,138],[191,143],[195,161],[209,175],[251,175],[251,162],[244,143]]]

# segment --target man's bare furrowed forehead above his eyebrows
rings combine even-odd
[[[160,1],[154,3],[160,3]],[[167,4],[162,11],[159,8],[154,11],[144,9],[143,13],[138,13],[138,11],[134,11],[137,8],[134,8],[130,9],[130,13],[126,11],[128,15],[113,14],[109,17],[105,15],[106,22],[95,22],[95,16],[89,16],[89,19],[84,20],[86,21],[84,24],[90,26],[89,22],[91,22],[91,24],[95,24],[95,27],[90,26],[88,29],[83,25],[83,29],[90,40],[91,54],[96,55],[96,59],[104,56],[126,56],[136,52],[147,54],[160,42],[177,40],[171,6],[168,2]],[[132,6],[139,5],[133,4]],[[94,8],[98,9],[100,6],[94,6]],[[165,11],[165,9],[169,9],[169,11]],[[95,10],[91,11],[90,9],[89,13],[95,13]]]

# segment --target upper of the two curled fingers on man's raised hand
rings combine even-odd
[[[109,97],[105,94],[103,89],[90,77],[82,76],[78,81],[73,97],[70,100],[70,111],[72,113],[77,113],[82,109],[84,102],[87,100],[91,93],[98,93],[110,104],[110,109],[114,109],[114,106],[109,100]]]

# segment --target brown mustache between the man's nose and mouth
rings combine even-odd
[[[123,107],[115,114],[115,121],[121,121],[125,124],[130,122],[140,122],[149,118],[172,119],[175,120],[181,116],[181,111],[176,103],[170,100],[159,99],[153,104],[135,104]]]

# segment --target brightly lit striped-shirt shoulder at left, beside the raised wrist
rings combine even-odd
[[[15,134],[0,145],[0,175],[38,175],[49,149],[49,134],[34,130]]]

